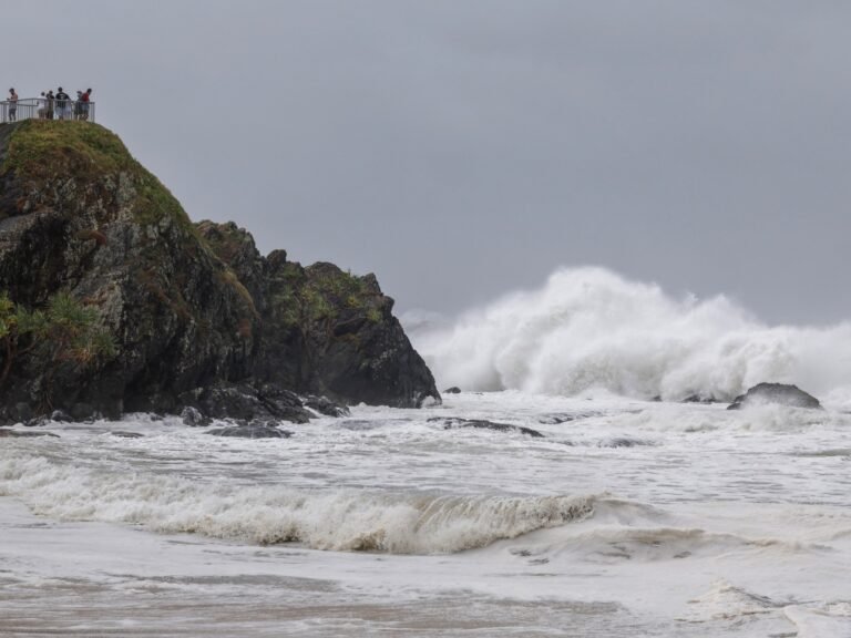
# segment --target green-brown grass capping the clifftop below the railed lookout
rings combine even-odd
[[[28,120],[13,124],[0,175],[16,177],[38,187],[53,179],[104,182],[123,174],[136,191],[133,214],[140,224],[157,224],[171,216],[194,234],[183,207],[127,151],[121,138],[91,122]]]

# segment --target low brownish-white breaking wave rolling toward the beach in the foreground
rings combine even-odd
[[[315,549],[448,554],[583,519],[594,495],[452,496],[228,486],[160,474],[113,474],[0,449],[0,496],[65,521],[143,525]]]

